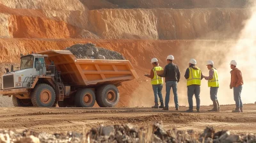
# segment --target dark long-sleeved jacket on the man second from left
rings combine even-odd
[[[180,81],[180,70],[176,64],[169,63],[164,67],[163,75],[159,77],[165,77],[165,82],[168,81]]]

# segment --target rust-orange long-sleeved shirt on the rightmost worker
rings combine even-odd
[[[231,73],[230,86],[238,87],[244,84],[242,73],[240,70],[238,70],[238,68],[233,69],[230,73]]]

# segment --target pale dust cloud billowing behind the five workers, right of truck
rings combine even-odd
[[[250,18],[243,22],[243,29],[239,33],[237,39],[223,39],[211,40],[211,35],[207,35],[209,40],[195,40],[191,45],[184,45],[179,47],[179,54],[174,54],[175,63],[180,67],[181,79],[178,84],[179,105],[188,105],[186,79],[184,73],[188,68],[189,59],[194,58],[197,61],[197,66],[202,70],[204,75],[209,75],[206,62],[208,60],[214,61],[214,66],[219,73],[220,88],[218,91],[218,100],[221,105],[234,104],[233,90],[229,88],[230,85],[230,61],[233,59],[237,61],[237,68],[243,74],[243,91],[241,98],[243,103],[256,102],[256,2],[252,3],[252,7],[248,8],[250,11]],[[220,33],[219,33],[220,34]],[[223,34],[223,33],[221,33]],[[228,33],[230,34],[230,33]],[[214,33],[214,36],[218,33]],[[222,35],[223,36],[223,35]],[[172,54],[172,52],[169,52]],[[165,63],[160,63],[164,67]],[[150,69],[148,69],[149,72]],[[209,94],[209,87],[207,80],[202,80],[201,85],[201,105],[211,105],[212,101]],[[138,94],[143,93],[143,94]],[[154,94],[149,82],[141,84],[131,98],[130,107],[149,107],[154,105]],[[163,86],[163,98],[165,97],[165,85]],[[193,98],[194,105],[195,98]],[[174,106],[173,93],[170,94],[169,106]]]

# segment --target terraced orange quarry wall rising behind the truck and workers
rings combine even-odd
[[[182,74],[179,102],[187,105],[183,74],[189,59],[197,59],[205,74],[210,56],[216,65],[223,64],[236,43],[227,39],[236,39],[250,17],[246,6],[246,0],[0,0],[0,61],[15,64],[20,53],[93,42],[122,53],[140,76],[119,88],[118,106],[149,107],[154,101],[152,87],[143,76],[150,71],[149,61],[157,57],[164,66],[166,56],[173,54]],[[229,69],[219,72],[227,75]],[[228,78],[229,73],[221,87],[227,86]],[[209,89],[203,83],[202,104],[209,105]],[[221,104],[234,103],[230,92],[220,91],[225,95],[218,97]]]

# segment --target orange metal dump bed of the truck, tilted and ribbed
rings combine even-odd
[[[125,80],[138,78],[131,63],[127,60],[77,59],[69,50],[46,50],[63,84],[72,86],[95,86],[98,84],[118,84]],[[51,63],[47,63],[51,64]]]

